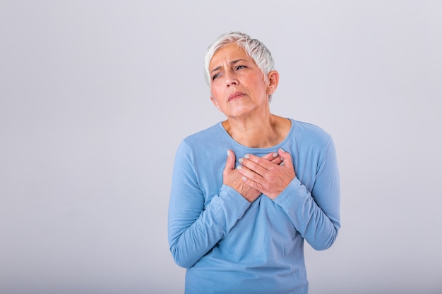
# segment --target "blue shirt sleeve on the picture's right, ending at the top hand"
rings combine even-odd
[[[275,203],[282,207],[297,231],[315,250],[333,245],[340,228],[340,180],[331,137],[318,157],[311,191],[294,178],[275,198]]]

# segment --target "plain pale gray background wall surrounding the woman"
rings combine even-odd
[[[203,54],[273,52],[274,114],[333,135],[342,229],[311,293],[441,293],[441,1],[0,1],[0,293],[183,293],[174,152],[224,117]]]

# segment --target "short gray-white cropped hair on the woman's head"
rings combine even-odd
[[[212,61],[213,56],[218,50],[229,44],[237,44],[239,47],[243,48],[244,51],[246,51],[247,56],[253,59],[256,66],[261,69],[265,82],[268,82],[267,74],[270,73],[270,71],[275,70],[275,62],[267,47],[265,47],[265,45],[258,39],[252,39],[249,35],[242,32],[227,32],[218,37],[205,52],[204,76],[205,82],[207,82],[208,85],[210,85],[211,80],[209,72],[210,61]]]

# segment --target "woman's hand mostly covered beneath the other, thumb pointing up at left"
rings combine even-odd
[[[280,164],[282,159],[278,156],[277,152],[271,152],[265,154],[263,159],[267,159],[275,164]],[[235,154],[232,150],[227,150],[227,160],[224,171],[222,172],[222,183],[234,188],[239,194],[241,194],[247,201],[253,202],[261,195],[261,192],[251,188],[244,183],[243,176],[237,169],[235,169]]]

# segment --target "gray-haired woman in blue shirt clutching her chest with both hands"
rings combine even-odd
[[[205,55],[210,99],[227,117],[177,150],[169,245],[186,293],[307,293],[304,239],[330,247],[340,228],[333,140],[270,113],[279,73],[270,51],[240,32]]]

